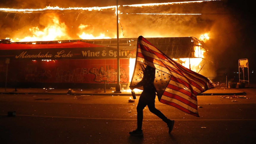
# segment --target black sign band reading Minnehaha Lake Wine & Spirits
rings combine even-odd
[[[26,49],[26,50],[1,50],[0,58],[11,59],[102,59],[117,58],[114,48],[51,48],[51,49]],[[128,57],[129,55],[129,57]],[[119,58],[130,58],[129,51],[119,50]],[[135,58],[135,56],[134,56]]]

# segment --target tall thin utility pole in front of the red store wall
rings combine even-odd
[[[115,93],[121,93],[121,86],[120,86],[120,69],[119,69],[119,32],[118,32],[118,0],[116,0],[116,28],[117,28],[117,83],[116,83],[116,91]]]

